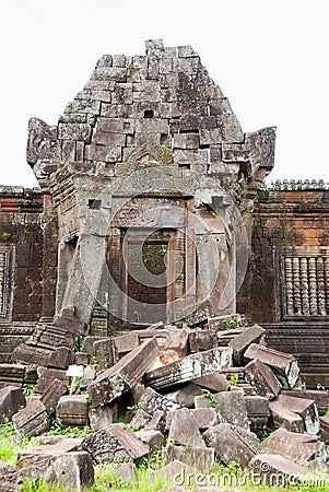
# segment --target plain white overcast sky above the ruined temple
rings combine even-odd
[[[329,181],[328,0],[3,0],[0,185],[37,186],[27,122],[56,125],[102,55],[191,45],[243,130],[277,126],[272,179]]]

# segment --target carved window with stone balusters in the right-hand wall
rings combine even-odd
[[[279,266],[282,319],[328,319],[329,247],[281,248]]]

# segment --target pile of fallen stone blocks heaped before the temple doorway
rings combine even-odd
[[[327,472],[328,391],[303,388],[296,359],[268,348],[262,327],[226,326],[221,317],[83,337],[85,326],[70,316],[39,325],[15,363],[0,364],[0,423],[38,442],[15,467],[1,464],[2,490],[27,478],[81,490],[94,483],[96,464],[133,481],[136,464],[154,452],[163,457],[154,477],[207,473],[215,458],[265,480]],[[74,352],[82,338],[85,351]],[[35,393],[25,403],[26,382]],[[48,436],[54,419],[91,433]]]

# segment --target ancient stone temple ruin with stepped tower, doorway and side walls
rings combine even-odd
[[[0,187],[0,362],[56,320],[104,337],[243,318],[327,386],[329,191],[267,187],[274,143],[191,47],[103,56],[57,125],[30,120],[39,188]]]

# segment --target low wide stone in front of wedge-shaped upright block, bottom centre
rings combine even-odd
[[[163,449],[163,464],[167,465],[175,460],[183,461],[202,473],[208,473],[213,467],[214,448],[175,446],[171,444]]]

